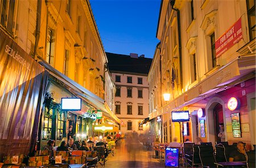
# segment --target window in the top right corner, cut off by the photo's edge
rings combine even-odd
[[[255,38],[255,1],[254,0],[247,0],[247,14],[248,14],[248,23],[249,23],[249,33],[250,33],[250,40]]]

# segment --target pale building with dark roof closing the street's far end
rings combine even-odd
[[[143,133],[143,119],[148,117],[147,73],[152,59],[138,54],[106,53],[115,83],[115,115],[122,120],[122,133]]]

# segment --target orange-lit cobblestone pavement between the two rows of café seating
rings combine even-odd
[[[98,165],[101,167],[100,165]],[[114,156],[110,154],[105,167],[132,168],[132,167],[164,167],[156,158],[152,157],[152,151],[148,151],[138,141],[119,140],[114,150]]]

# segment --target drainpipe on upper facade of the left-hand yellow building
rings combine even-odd
[[[42,0],[38,0],[38,5],[36,7],[36,32],[35,32],[34,58],[35,58],[35,55],[36,55],[36,50],[38,49],[38,41],[39,41],[39,38],[40,38],[41,8],[42,8]],[[43,56],[43,55],[40,55],[40,56]]]

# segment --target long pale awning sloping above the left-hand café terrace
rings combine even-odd
[[[82,98],[82,100],[85,101],[87,104],[92,105],[94,108],[98,110],[101,110],[105,117],[112,118],[115,120],[115,122],[121,123],[121,120],[109,109],[108,105],[105,103],[105,101],[102,98],[96,96],[92,92],[82,87],[80,84],[70,79],[68,76],[65,76],[60,71],[53,68],[50,64],[48,64],[42,58],[40,58],[38,62],[42,66],[47,68],[50,75],[52,75],[53,77],[56,77],[56,79],[62,81],[65,85],[67,85],[70,92],[78,94]]]

